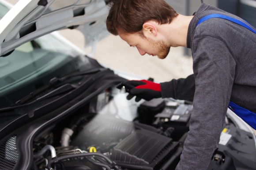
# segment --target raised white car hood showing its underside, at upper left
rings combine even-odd
[[[0,20],[0,56],[37,37],[62,29],[78,29],[85,46],[106,37],[109,0],[19,0]]]

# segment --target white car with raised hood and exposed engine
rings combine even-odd
[[[20,0],[11,7],[0,0],[1,170],[177,166],[193,103],[126,100],[123,82],[139,77],[103,67],[54,32],[78,29],[95,45],[108,35],[109,3]],[[207,170],[255,167],[256,136],[228,109]]]

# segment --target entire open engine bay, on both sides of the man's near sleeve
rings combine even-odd
[[[188,135],[192,102],[172,98],[136,102],[126,99],[124,89],[117,89],[122,81],[119,77],[87,80],[96,81],[90,86],[81,84],[41,107],[29,107],[32,112],[6,126],[8,132],[8,128],[23,124],[2,139],[0,167],[174,170]],[[31,121],[24,123],[26,116]],[[245,166],[253,170],[255,158],[252,133],[237,128],[227,115],[207,170]]]

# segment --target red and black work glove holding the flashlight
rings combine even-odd
[[[148,80],[132,80],[126,81],[125,84],[128,84],[130,87],[133,86],[133,88],[129,90],[130,94],[126,97],[128,100],[132,99],[133,96],[136,96],[136,102],[141,99],[149,101],[154,98],[162,97],[159,83]]]

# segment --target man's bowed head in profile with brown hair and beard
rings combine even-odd
[[[141,55],[147,53],[164,59],[170,44],[159,34],[158,26],[170,24],[177,15],[164,0],[113,0],[106,26],[110,33],[136,47]]]

